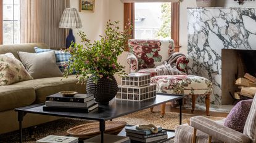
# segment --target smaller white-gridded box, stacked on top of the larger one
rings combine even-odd
[[[130,87],[142,87],[151,83],[150,74],[128,74],[126,77],[122,77],[122,85]]]

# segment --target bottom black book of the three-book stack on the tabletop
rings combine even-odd
[[[99,105],[97,103],[94,103],[92,106],[90,106],[88,108],[43,106],[43,110],[46,110],[46,111],[56,111],[56,112],[82,112],[82,113],[88,113],[91,110],[96,109],[97,107],[99,107]]]

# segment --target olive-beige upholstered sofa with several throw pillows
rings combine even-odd
[[[20,60],[17,54],[18,51],[35,53],[34,47],[49,48],[47,45],[41,43],[0,45],[0,54],[10,52]],[[60,79],[62,77],[51,77],[0,86],[0,134],[19,129],[18,115],[14,111],[17,107],[44,102],[47,95],[52,95],[59,91],[86,92],[85,85],[76,84],[77,79],[75,75],[71,75],[68,79]],[[27,114],[23,119],[23,128],[56,119],[57,117],[46,115]]]

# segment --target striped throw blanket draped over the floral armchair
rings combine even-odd
[[[181,56],[185,56],[183,53],[171,53],[170,57],[163,61],[163,64],[156,67],[157,75],[186,75],[184,72],[176,68],[176,60]]]

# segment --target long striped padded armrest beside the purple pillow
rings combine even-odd
[[[209,136],[226,143],[250,142],[250,138],[245,134],[220,125],[205,117],[197,116],[190,118],[190,125],[206,134],[209,134]]]

